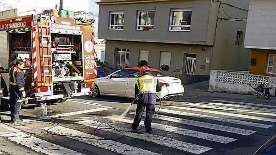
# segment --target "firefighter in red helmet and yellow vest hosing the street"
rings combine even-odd
[[[130,127],[133,130],[137,130],[146,108],[145,128],[146,132],[151,132],[151,121],[155,110],[156,93],[161,91],[162,87],[157,78],[150,74],[149,67],[141,67],[140,73],[142,76],[136,81],[135,85],[135,94],[139,93],[139,99],[135,119]]]

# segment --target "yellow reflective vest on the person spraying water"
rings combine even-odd
[[[136,81],[139,94],[156,93],[157,79],[151,75],[141,76]]]

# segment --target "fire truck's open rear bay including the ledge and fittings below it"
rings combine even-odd
[[[53,94],[70,97],[83,84],[82,35],[51,33]]]

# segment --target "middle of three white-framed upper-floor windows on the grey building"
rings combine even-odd
[[[153,30],[154,10],[138,11],[137,30]]]

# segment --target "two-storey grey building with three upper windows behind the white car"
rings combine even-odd
[[[146,60],[184,83],[210,70],[248,70],[243,48],[249,0],[101,0],[98,37],[115,70]]]

